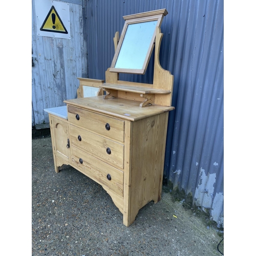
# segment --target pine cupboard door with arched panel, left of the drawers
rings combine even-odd
[[[51,118],[52,128],[54,132],[54,148],[53,151],[56,157],[59,157],[70,163],[70,138],[69,125],[66,119]]]

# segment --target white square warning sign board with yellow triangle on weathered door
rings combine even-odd
[[[35,1],[37,35],[59,38],[70,37],[70,8],[68,3]]]

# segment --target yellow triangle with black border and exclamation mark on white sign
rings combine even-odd
[[[50,11],[48,12],[44,23],[42,23],[40,30],[68,34],[68,31],[63,25],[62,20],[60,19],[54,6],[52,6]]]

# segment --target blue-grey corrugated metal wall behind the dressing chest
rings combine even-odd
[[[123,15],[166,8],[161,31],[162,67],[174,75],[164,176],[191,193],[223,227],[223,0],[85,0],[88,76],[104,79],[114,56],[113,37]],[[154,57],[154,54],[153,56]],[[145,75],[120,79],[153,82]]]

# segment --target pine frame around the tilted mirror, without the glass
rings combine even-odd
[[[117,45],[117,49],[115,51],[115,55],[113,57],[111,67],[110,67],[110,72],[117,72],[117,73],[131,73],[131,74],[145,74],[146,68],[148,65],[148,61],[150,60],[153,48],[154,48],[154,41],[156,38],[156,29],[154,31],[152,40],[150,42],[150,46],[147,49],[147,54],[143,62],[142,69],[122,69],[122,68],[115,68],[116,61],[120,52],[120,49],[122,47],[122,42],[126,33],[126,30],[130,24],[135,24],[135,23],[144,23],[144,22],[151,22],[153,20],[157,20],[157,25],[156,27],[161,26],[163,16],[167,15],[168,12],[166,9],[160,9],[156,11],[150,11],[150,12],[142,12],[138,14],[132,14],[132,15],[126,15],[123,16],[125,22],[123,26],[123,30]]]

